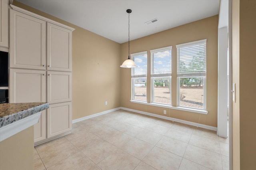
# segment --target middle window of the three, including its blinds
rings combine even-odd
[[[172,46],[150,50],[151,101],[171,105]]]

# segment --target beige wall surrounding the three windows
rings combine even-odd
[[[131,25],[132,27],[132,25]],[[131,103],[131,71],[121,69],[121,107],[136,109],[154,113],[157,115],[182,119],[195,123],[201,123],[217,127],[217,90],[218,90],[218,15],[172,28],[157,34],[152,34],[144,38],[130,42],[130,53],[148,51],[148,78],[150,81],[150,50],[172,45],[172,105],[177,105],[177,69],[176,69],[176,45],[196,40],[207,39],[207,78],[206,78],[206,108],[208,115],[166,109],[150,105]],[[128,43],[121,46],[122,61],[128,56]],[[147,100],[150,101],[150,83],[147,83]],[[163,114],[167,110],[167,114]]]

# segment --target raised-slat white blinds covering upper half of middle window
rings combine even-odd
[[[151,75],[162,77],[172,75],[172,46],[150,50]]]

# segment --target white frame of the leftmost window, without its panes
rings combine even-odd
[[[135,68],[131,68],[131,87],[132,87],[132,90],[131,90],[131,99],[133,101],[142,101],[142,102],[147,102],[147,90],[146,90],[146,101],[143,101],[143,100],[138,100],[138,99],[135,99],[135,95],[134,95],[134,92],[135,92],[135,87],[134,87],[134,79],[138,79],[138,78],[145,78],[146,79],[146,82],[147,83],[147,69],[148,69],[148,53],[147,51],[142,51],[142,52],[138,52],[138,53],[132,53],[131,54],[131,59],[134,61],[134,57],[138,56],[138,55],[146,55],[146,74],[141,74],[141,75],[134,75],[134,69]],[[135,61],[134,61],[135,62]],[[136,63],[135,63],[136,64]],[[137,64],[136,64],[137,65]],[[146,87],[147,88],[147,87]]]

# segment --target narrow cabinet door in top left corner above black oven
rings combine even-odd
[[[8,0],[0,0],[0,46],[8,47]]]

